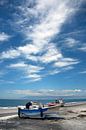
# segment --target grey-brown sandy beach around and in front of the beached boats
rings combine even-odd
[[[0,111],[0,118],[16,115],[17,109]],[[3,119],[0,120],[0,130],[86,130],[86,103],[73,106],[54,108],[49,113],[57,113],[58,119]]]

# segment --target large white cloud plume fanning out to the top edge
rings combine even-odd
[[[31,39],[33,44],[43,49],[60,32],[61,26],[69,18],[70,14],[73,13],[74,8],[70,6],[68,0],[50,0],[49,2],[37,0],[33,8],[28,8],[29,4],[30,2],[26,2],[25,6],[19,6],[22,12],[19,18],[16,19],[16,25],[20,26],[20,28],[22,26],[22,32],[27,39]],[[22,15],[24,19],[22,19]],[[36,24],[28,25],[27,23],[34,17],[37,20]]]

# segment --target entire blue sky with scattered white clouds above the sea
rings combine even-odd
[[[86,0],[0,0],[0,98],[86,95]]]

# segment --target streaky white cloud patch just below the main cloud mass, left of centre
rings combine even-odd
[[[11,69],[20,69],[22,72],[24,72],[23,78],[29,78],[30,81],[38,81],[42,79],[42,76],[39,74],[41,70],[44,69],[44,67],[41,66],[35,66],[26,64],[24,62],[18,62],[15,64],[10,64],[8,68]]]

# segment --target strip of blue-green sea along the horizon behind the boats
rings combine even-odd
[[[35,99],[32,101],[41,102],[43,104],[46,104],[48,102],[53,102],[56,98],[53,99]],[[59,98],[57,98],[59,99]],[[62,97],[65,103],[72,103],[72,102],[86,102],[86,97]],[[0,107],[17,107],[17,106],[24,106],[28,101],[31,101],[29,99],[0,99]]]

